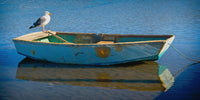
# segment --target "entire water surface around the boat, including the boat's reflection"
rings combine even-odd
[[[174,34],[173,45],[200,60],[200,0],[0,0],[1,100],[200,99],[200,64],[172,48],[156,62],[62,65],[16,53],[12,39],[52,13],[52,31]]]

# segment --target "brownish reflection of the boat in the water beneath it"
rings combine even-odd
[[[166,66],[137,62],[112,66],[66,65],[25,58],[17,69],[17,79],[133,91],[166,91],[174,77]]]

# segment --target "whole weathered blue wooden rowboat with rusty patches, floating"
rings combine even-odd
[[[67,64],[110,65],[158,60],[175,37],[174,35],[53,33],[49,35],[35,32],[17,37],[13,41],[19,54],[32,59]]]

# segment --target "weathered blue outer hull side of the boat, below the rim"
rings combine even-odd
[[[173,40],[172,40],[173,41]],[[19,54],[54,63],[110,65],[157,60],[167,50],[166,41],[113,44],[65,44],[14,39]]]

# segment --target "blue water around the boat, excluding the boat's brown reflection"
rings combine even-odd
[[[46,82],[45,79],[34,81],[34,77],[18,78],[20,62],[25,57],[17,54],[12,39],[42,31],[42,28],[28,27],[42,16],[44,11],[49,11],[52,16],[51,22],[45,27],[46,30],[109,34],[174,34],[173,45],[183,54],[200,60],[199,5],[200,0],[0,0],[0,99],[198,100],[200,65],[182,57],[173,48],[169,48],[162,58],[155,62],[156,66],[167,66],[175,78],[171,88],[166,91],[143,90],[142,87],[141,90],[130,90],[109,86],[104,88],[99,85],[83,86],[79,81],[75,81],[76,84],[60,84],[57,81]],[[47,69],[50,65],[44,63]],[[33,68],[33,71],[40,69],[35,63],[27,66]]]

